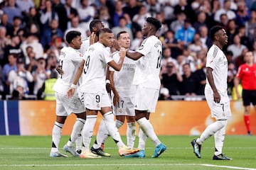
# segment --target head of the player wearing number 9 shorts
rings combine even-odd
[[[114,34],[110,28],[103,28],[99,32],[100,42],[106,47],[112,47],[114,43]]]

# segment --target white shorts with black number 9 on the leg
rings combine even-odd
[[[108,94],[83,94],[84,106],[87,109],[100,111],[101,108],[111,107],[110,97]]]

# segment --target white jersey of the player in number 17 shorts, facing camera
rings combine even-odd
[[[119,52],[114,52],[112,55],[115,62],[119,62]],[[135,86],[132,84],[134,79],[136,61],[124,57],[122,68],[119,72],[110,67],[110,71],[114,72],[114,87],[117,89],[120,96],[130,96],[135,94]]]

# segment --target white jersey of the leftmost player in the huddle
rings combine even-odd
[[[64,74],[59,75],[53,90],[60,94],[67,94],[68,89],[73,83],[74,74],[82,62],[82,54],[73,47],[63,47],[60,51],[60,66]]]

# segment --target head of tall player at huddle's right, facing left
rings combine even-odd
[[[161,22],[153,17],[146,18],[146,23],[142,28],[142,34],[148,35],[149,32],[156,33],[157,30],[161,28]]]

